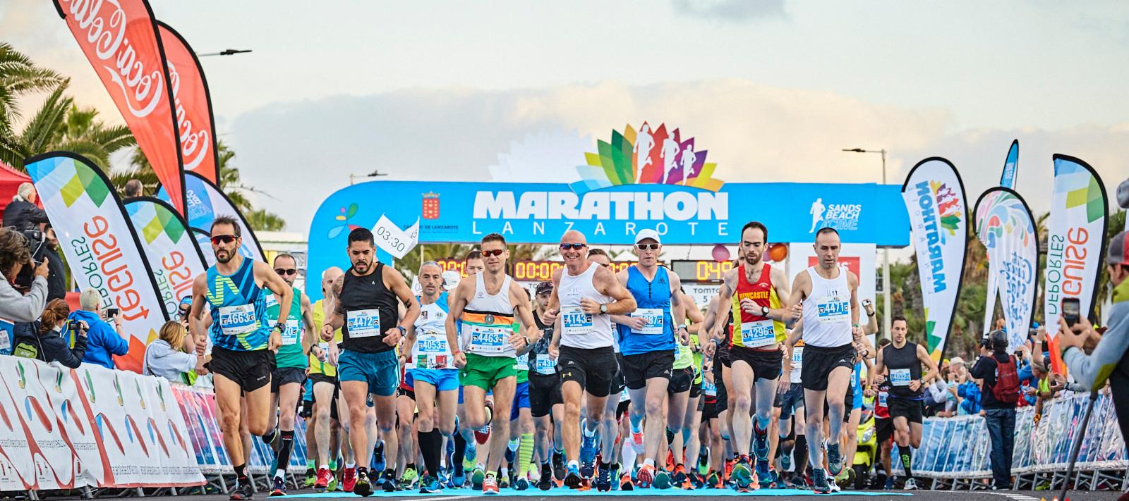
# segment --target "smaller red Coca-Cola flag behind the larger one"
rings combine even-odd
[[[173,84],[173,109],[181,143],[184,170],[191,170],[216,183],[216,121],[211,113],[208,79],[192,46],[165,23],[157,21],[160,44],[165,47],[168,79]]]

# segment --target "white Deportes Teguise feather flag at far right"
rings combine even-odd
[[[1058,349],[1058,319],[1066,298],[1078,298],[1082,316],[1094,311],[1105,255],[1109,202],[1102,178],[1085,161],[1054,155],[1054,188],[1047,219],[1043,318],[1051,366],[1066,373]]]

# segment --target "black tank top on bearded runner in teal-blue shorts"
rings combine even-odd
[[[384,333],[396,326],[397,306],[396,295],[384,287],[384,263],[376,263],[376,270],[364,276],[355,275],[350,267],[338,302],[338,311],[345,318],[341,348],[360,353],[392,350],[384,343]]]

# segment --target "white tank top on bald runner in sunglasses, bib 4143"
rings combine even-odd
[[[612,317],[609,315],[588,315],[580,309],[580,299],[588,298],[602,305],[612,302],[612,298],[596,291],[592,278],[596,275],[596,263],[588,263],[588,269],[579,275],[570,275],[566,267],[561,273],[561,345],[570,348],[593,349],[614,345],[612,336]]]

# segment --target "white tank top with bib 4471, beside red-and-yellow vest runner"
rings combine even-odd
[[[850,344],[850,287],[847,271],[839,269],[839,276],[828,280],[815,267],[807,269],[812,279],[812,293],[804,299],[804,344],[834,348]]]

